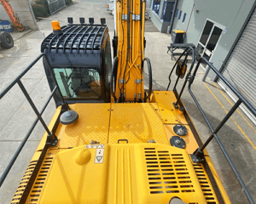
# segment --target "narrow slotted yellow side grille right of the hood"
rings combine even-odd
[[[206,171],[202,164],[193,164],[196,176],[201,185],[201,190],[203,191],[207,204],[217,204],[216,195],[212,189],[212,184],[210,184],[209,178],[207,177]]]

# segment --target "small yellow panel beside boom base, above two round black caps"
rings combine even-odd
[[[177,114],[173,103],[177,101],[172,91],[154,91],[154,101],[160,108],[163,123],[165,124],[188,124],[184,116]]]

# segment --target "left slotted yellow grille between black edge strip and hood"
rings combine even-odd
[[[53,161],[53,157],[44,158],[44,162],[38,172],[38,176],[35,179],[35,182],[32,186],[32,190],[27,197],[27,204],[36,204],[38,203],[39,196],[44,186],[45,179],[49,173],[49,167]]]

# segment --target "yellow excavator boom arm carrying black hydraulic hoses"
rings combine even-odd
[[[119,102],[140,102],[145,97],[143,88],[145,1],[117,1],[116,16],[119,62],[115,96]]]

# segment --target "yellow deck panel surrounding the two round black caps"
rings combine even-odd
[[[170,141],[170,139],[172,138],[172,136],[177,136],[176,133],[174,133],[173,131],[173,127],[175,125],[170,125],[170,124],[165,124],[164,127],[166,129],[166,135],[167,135],[167,139],[168,141]],[[187,150],[187,152],[189,154],[193,154],[194,151],[199,147],[195,137],[193,135],[193,133],[191,132],[191,129],[189,128],[188,125],[185,125],[185,127],[187,127],[188,133],[185,136],[180,136],[182,139],[184,139],[185,143],[186,143],[186,147],[185,150]]]

